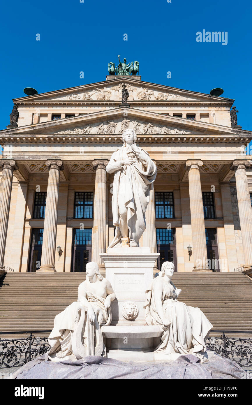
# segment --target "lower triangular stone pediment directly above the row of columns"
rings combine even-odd
[[[116,135],[132,128],[139,135],[227,135],[248,133],[217,124],[192,121],[189,119],[153,113],[136,108],[114,108],[56,121],[23,126],[1,131],[6,134],[43,135]]]

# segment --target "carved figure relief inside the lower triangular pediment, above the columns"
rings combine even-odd
[[[178,128],[167,127],[150,122],[143,122],[137,120],[130,120],[124,118],[122,121],[106,121],[98,122],[95,124],[88,124],[74,129],[66,129],[64,131],[56,132],[59,135],[88,135],[88,134],[102,134],[102,135],[115,135],[122,134],[126,129],[134,129],[139,135],[186,135],[191,134]]]

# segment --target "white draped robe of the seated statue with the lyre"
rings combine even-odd
[[[87,283],[89,283],[89,279],[87,277]],[[104,307],[105,298],[94,294],[91,291],[88,291],[87,286],[83,286],[81,283],[82,289],[86,292],[86,298],[88,302],[92,305],[93,309],[97,307],[102,309],[103,313],[103,321],[102,324],[105,324],[108,319],[107,310]],[[80,302],[73,302],[72,304],[68,305],[64,311],[60,312],[54,318],[54,327],[48,337],[48,343],[51,345],[51,350],[48,352],[49,356],[56,353],[56,357],[64,358],[65,356],[69,356],[73,354],[72,350],[72,338],[73,332],[77,327],[77,322],[75,322],[75,318],[78,314],[78,310],[81,309],[83,306]],[[85,343],[85,339],[87,338],[87,322],[85,320],[84,323],[84,334],[83,340]]]

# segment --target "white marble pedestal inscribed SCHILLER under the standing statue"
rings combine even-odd
[[[144,325],[145,291],[153,280],[153,269],[159,253],[151,253],[149,247],[111,247],[107,253],[100,254],[106,279],[115,291],[115,300],[111,302],[111,325]],[[138,314],[128,320],[122,315],[122,305],[133,302]]]

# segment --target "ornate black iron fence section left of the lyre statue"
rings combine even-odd
[[[28,361],[42,356],[50,349],[47,337],[35,337],[33,333],[47,333],[51,330],[33,330],[32,332],[0,332],[11,335],[30,333],[28,337],[0,337],[0,369],[5,367],[21,367]]]

